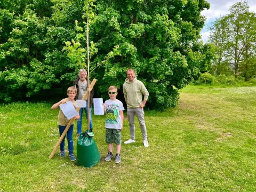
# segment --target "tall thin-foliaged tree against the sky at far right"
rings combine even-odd
[[[256,17],[246,1],[230,6],[230,13],[217,19],[210,27],[210,42],[216,46],[215,72],[226,74],[231,66],[235,78],[241,74],[245,81],[256,74]]]

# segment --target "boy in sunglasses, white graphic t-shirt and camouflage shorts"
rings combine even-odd
[[[108,155],[105,161],[110,161],[113,157],[113,143],[116,143],[116,158],[115,163],[121,162],[121,131],[123,130],[124,122],[124,106],[121,101],[116,99],[117,87],[110,86],[108,88],[109,100],[103,104],[104,114],[106,114],[106,142],[108,143]]]

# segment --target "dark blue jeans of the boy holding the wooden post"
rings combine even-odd
[[[63,131],[66,129],[66,126],[59,125],[59,131],[60,131],[60,136],[62,135]],[[68,140],[68,154],[73,154],[74,150],[74,144],[73,144],[73,129],[74,129],[74,124],[70,125],[68,132],[67,132],[67,140]],[[65,150],[65,137],[62,139],[60,143],[60,150],[63,151]]]

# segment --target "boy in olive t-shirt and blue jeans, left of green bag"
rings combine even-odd
[[[59,106],[63,105],[64,103],[67,103],[68,101],[71,101],[73,103],[74,107],[76,108],[76,101],[74,100],[76,93],[77,93],[76,87],[74,87],[74,86],[68,87],[68,90],[67,90],[68,98],[62,99],[61,101],[55,103],[52,106],[52,109],[57,109]],[[79,115],[75,116],[75,119],[76,120],[79,119]],[[67,119],[65,117],[62,110],[60,109],[59,116],[58,116],[58,125],[59,125],[60,136],[62,135],[63,131],[66,129],[68,122],[69,122],[69,119]],[[73,128],[74,128],[74,123],[72,123],[70,125],[68,132],[67,132],[68,154],[69,154],[69,158],[71,161],[76,161],[76,157],[73,153],[73,150],[74,150]],[[65,138],[66,138],[66,135],[60,143],[60,157],[65,157]]]

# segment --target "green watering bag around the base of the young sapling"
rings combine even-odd
[[[100,152],[93,140],[93,133],[81,133],[77,140],[77,164],[92,167],[100,162]]]

